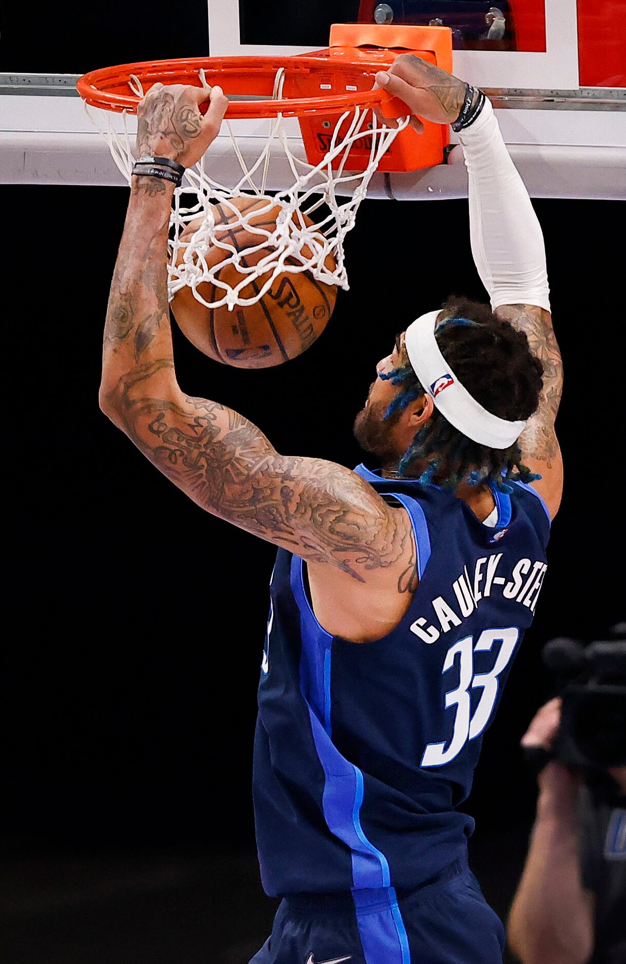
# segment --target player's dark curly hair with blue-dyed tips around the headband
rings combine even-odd
[[[452,297],[442,308],[435,337],[459,382],[483,408],[510,421],[530,418],[539,404],[543,365],[531,353],[523,332],[497,318],[487,305]],[[385,418],[399,415],[424,394],[408,357],[405,364],[383,377],[400,386]],[[455,489],[461,482],[479,485],[491,481],[510,492],[507,481],[530,482],[540,477],[522,464],[517,442],[505,449],[473,442],[438,409],[400,459],[399,474],[415,478],[412,468],[418,460],[420,481],[445,489]]]

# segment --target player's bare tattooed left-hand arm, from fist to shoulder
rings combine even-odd
[[[186,165],[202,156],[212,138],[193,91],[152,88],[140,109],[140,152]],[[219,95],[213,104],[219,127]],[[350,582],[376,580],[398,560],[406,569],[410,523],[367,482],[320,459],[279,455],[247,419],[178,387],[166,271],[173,191],[169,181],[133,177],[104,333],[103,412],[206,511]]]

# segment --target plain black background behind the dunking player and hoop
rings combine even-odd
[[[204,4],[173,26],[161,0],[150,15],[116,0],[64,3],[27,29],[3,27],[3,69],[73,72],[200,56],[206,44]],[[127,192],[1,194],[4,946],[11,964],[244,964],[274,909],[260,891],[250,793],[274,550],[204,515],[99,412]],[[565,366],[565,491],[535,622],[468,802],[474,866],[502,915],[534,806],[518,742],[551,693],[541,646],[624,617],[624,207],[535,209]],[[484,292],[466,201],[366,201],[346,249],[350,290],[302,358],[237,371],[174,335],[184,390],[248,416],[282,452],[354,465],[352,421],[395,333],[450,293]]]

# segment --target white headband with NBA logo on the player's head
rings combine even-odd
[[[409,362],[450,425],[473,442],[490,448],[508,448],[524,431],[526,422],[509,422],[492,415],[463,388],[435,339],[435,322],[440,310],[422,314],[407,328],[404,344]]]

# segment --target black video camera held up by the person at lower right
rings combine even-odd
[[[558,672],[562,700],[552,755],[585,769],[626,765],[626,627],[586,645],[553,639],[543,662]]]

